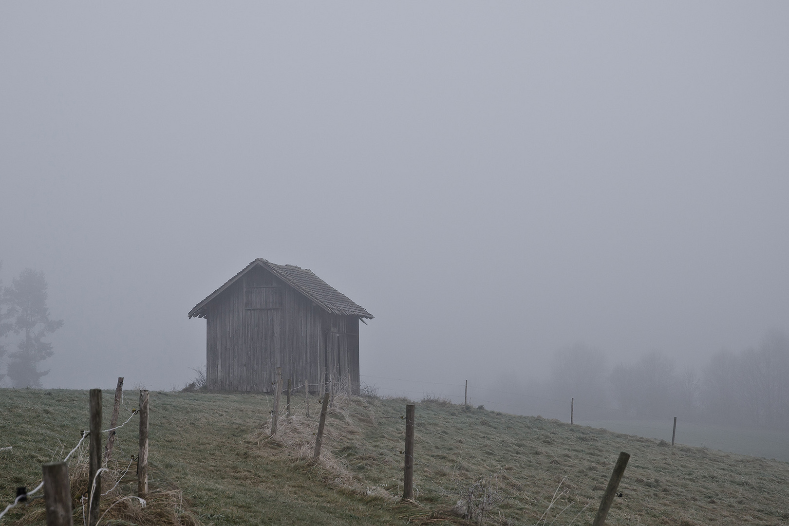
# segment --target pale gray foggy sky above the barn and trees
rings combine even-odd
[[[702,364],[789,330],[783,2],[0,4],[0,259],[45,386],[182,386],[256,257],[376,316],[362,374]]]

